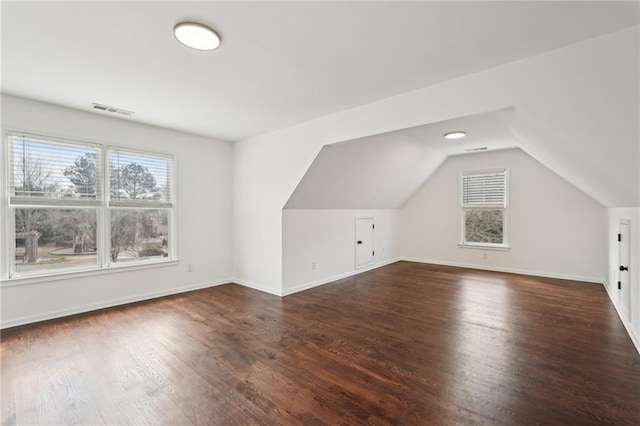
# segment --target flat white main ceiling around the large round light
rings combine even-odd
[[[241,140],[638,22],[636,2],[2,2],[2,91]],[[214,27],[199,52],[172,34]],[[429,129],[407,131],[428,137]],[[471,141],[471,139],[469,139]],[[443,148],[446,151],[446,148]]]

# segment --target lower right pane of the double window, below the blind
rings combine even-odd
[[[111,261],[169,256],[168,210],[112,210]]]

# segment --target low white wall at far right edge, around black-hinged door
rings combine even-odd
[[[640,352],[640,208],[608,209],[607,247],[609,264],[606,288],[611,300],[618,309],[622,322],[627,327],[638,352]],[[631,285],[631,320],[624,318],[621,309],[620,291],[618,290],[619,244],[617,235],[620,219],[630,219],[631,253],[629,275]]]

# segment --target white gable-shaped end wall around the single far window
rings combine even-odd
[[[458,247],[460,172],[499,167],[509,170],[511,250]],[[460,155],[449,158],[402,209],[400,254],[407,260],[603,283],[605,229],[604,207],[522,150]]]

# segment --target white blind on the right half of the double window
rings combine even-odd
[[[170,208],[173,157],[108,149],[109,207]]]

